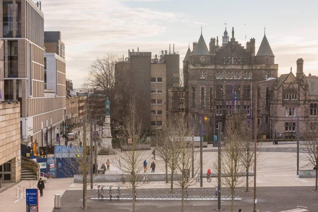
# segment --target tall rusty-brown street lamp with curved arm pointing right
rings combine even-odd
[[[254,114],[254,208],[253,212],[256,212],[256,132],[257,132],[257,85],[262,82],[269,82],[276,80],[276,78],[268,78],[263,81],[259,81],[255,84],[255,114]]]

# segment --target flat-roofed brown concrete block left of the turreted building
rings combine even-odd
[[[125,67],[125,68],[123,68]],[[153,57],[151,52],[137,52],[134,49],[130,52],[128,50],[128,57],[125,61],[118,62],[115,66],[115,85],[121,86],[122,69],[131,69],[134,76],[131,80],[132,88],[131,96],[142,107],[140,115],[142,126],[144,130],[156,130],[162,127],[163,122],[166,120],[168,110],[168,88],[179,87],[179,54],[178,52],[165,50]],[[118,110],[124,110],[123,105],[127,104],[123,99],[122,94],[121,105]],[[122,112],[121,112],[122,113]],[[122,121],[118,125],[121,126]]]

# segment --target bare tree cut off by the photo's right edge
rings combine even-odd
[[[300,158],[307,162],[305,166],[312,165],[316,171],[315,191],[318,191],[318,122],[308,121],[301,133],[302,144],[300,149],[307,152],[300,154]]]

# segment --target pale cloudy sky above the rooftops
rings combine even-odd
[[[128,56],[128,49],[152,54],[175,44],[180,67],[188,43],[201,34],[207,46],[227,24],[231,37],[245,45],[264,36],[279,65],[278,73],[296,73],[303,58],[304,73],[318,75],[318,1],[212,1],[212,0],[42,0],[45,31],[60,31],[65,43],[66,78],[81,88],[89,67],[106,54]]]

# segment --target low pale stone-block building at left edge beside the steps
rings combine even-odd
[[[20,103],[0,103],[0,178],[2,180],[11,182],[20,180],[19,150]]]

